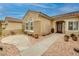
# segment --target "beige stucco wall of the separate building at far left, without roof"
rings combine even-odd
[[[6,22],[5,22],[6,23]],[[22,23],[18,22],[7,22],[7,25],[3,25],[5,29],[2,30],[2,35],[10,35],[11,31],[15,33],[22,33]]]

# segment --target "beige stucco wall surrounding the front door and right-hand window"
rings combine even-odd
[[[63,33],[65,33],[65,34],[71,34],[71,33],[78,34],[79,33],[79,28],[78,28],[78,30],[68,30],[68,22],[69,21],[78,21],[79,22],[78,18],[57,19],[57,20],[52,21],[52,27],[55,29],[54,32],[56,32],[56,21],[65,21],[63,23]]]

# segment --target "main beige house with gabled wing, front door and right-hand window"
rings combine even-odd
[[[27,34],[46,35],[54,29],[55,33],[79,33],[79,11],[49,17],[48,15],[28,11],[23,18],[24,32]]]

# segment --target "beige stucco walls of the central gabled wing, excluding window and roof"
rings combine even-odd
[[[33,32],[26,31],[26,22],[28,22],[30,19],[32,19],[33,21]],[[39,16],[39,13],[36,12],[28,12],[24,17],[23,23],[24,31],[27,33],[44,35],[48,34],[51,31],[50,20],[45,17]]]

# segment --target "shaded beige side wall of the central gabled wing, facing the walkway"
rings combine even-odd
[[[51,32],[51,20],[47,19],[45,17],[39,16],[39,19],[41,20],[41,33],[42,35],[49,34]]]

